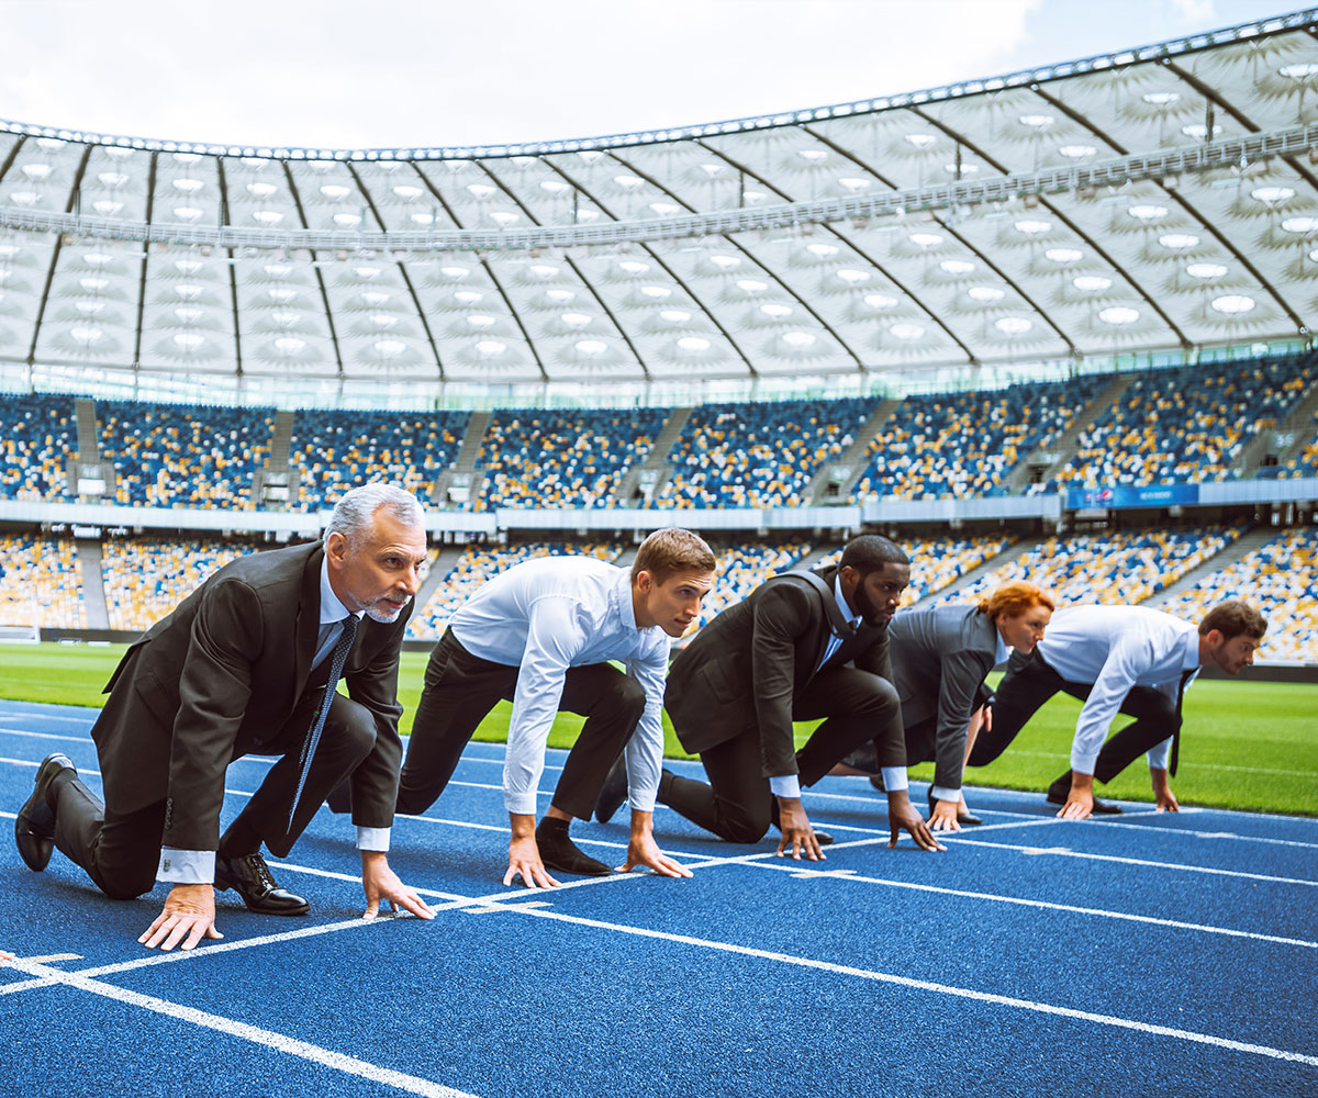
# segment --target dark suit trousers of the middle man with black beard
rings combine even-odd
[[[793,721],[826,720],[796,753],[803,786],[813,786],[845,755],[902,720],[892,684],[854,667],[825,668],[792,700]],[[700,753],[709,784],[664,771],[659,803],[729,842],[758,842],[775,821],[759,729],[741,729]]]

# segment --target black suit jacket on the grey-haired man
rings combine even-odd
[[[323,558],[315,543],[225,564],[134,642],[107,684],[91,733],[105,804],[133,812],[166,801],[162,846],[217,848],[225,768],[269,743],[307,691]],[[344,666],[349,696],[376,718],[376,745],[352,775],[353,820],[364,826],[393,823],[409,613],[387,625],[364,617]],[[298,750],[302,730],[289,736],[275,750]]]

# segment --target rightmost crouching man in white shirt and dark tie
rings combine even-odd
[[[1083,820],[1119,813],[1094,796],[1094,779],[1111,782],[1148,754],[1159,811],[1180,805],[1168,776],[1176,774],[1181,696],[1205,664],[1236,675],[1253,663],[1268,622],[1240,600],[1213,608],[1191,622],[1145,606],[1072,606],[1058,610],[1048,635],[1028,655],[1016,652],[991,701],[991,726],[970,753],[970,766],[1000,755],[1039,708],[1058,691],[1085,705],[1075,724],[1072,766],[1048,790],[1057,813]],[[1107,739],[1118,713],[1135,717]],[[1169,758],[1170,757],[1170,758]]]

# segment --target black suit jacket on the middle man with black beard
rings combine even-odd
[[[832,589],[837,568],[817,575]],[[764,776],[796,774],[792,703],[816,678],[830,635],[824,602],[805,580],[768,580],[729,606],[668,671],[664,707],[681,746],[699,753],[757,729]],[[891,680],[887,627],[862,625],[824,671],[844,663]],[[883,766],[905,759],[900,722],[894,724]]]

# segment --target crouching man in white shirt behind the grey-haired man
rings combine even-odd
[[[587,556],[548,556],[492,579],[453,614],[426,668],[426,687],[398,787],[398,812],[424,812],[444,791],[463,749],[500,699],[513,703],[503,766],[511,825],[505,884],[558,884],[548,869],[602,875],[604,862],[568,837],[589,819],[626,749],[631,838],[623,870],[689,871],[655,845],[651,824],[663,759],[664,681],[671,638],[709,592],[714,555],[689,530],[656,530],[630,572]],[[626,674],[610,666],[617,660]],[[544,819],[535,795],[559,710],[585,716]],[[635,734],[633,734],[635,733]]]

